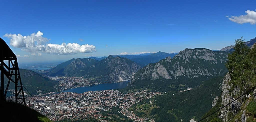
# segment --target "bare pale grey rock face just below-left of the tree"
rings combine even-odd
[[[225,106],[226,104],[230,103],[234,99],[236,99],[236,96],[240,96],[240,94],[243,94],[244,92],[240,93],[241,89],[240,87],[235,87],[233,90],[231,89],[231,86],[229,85],[230,81],[230,74],[228,73],[222,82],[222,93],[221,93],[221,106]],[[231,90],[231,92],[230,92]],[[246,96],[244,96],[246,97]],[[223,121],[229,121],[230,118],[228,118],[229,115],[236,115],[240,111],[240,107],[242,103],[240,103],[244,97],[239,98],[238,100],[232,102],[230,105],[224,107],[220,110],[222,113],[219,118],[221,118]],[[239,104],[240,103],[240,104]],[[232,108],[232,109],[230,109]],[[228,110],[230,109],[230,110]],[[228,110],[228,111],[227,111]],[[227,112],[225,112],[227,111]]]

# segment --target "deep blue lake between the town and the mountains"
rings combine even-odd
[[[126,87],[130,83],[130,80],[119,82],[119,83],[111,83],[111,84],[98,84],[95,86],[89,86],[89,87],[77,87],[73,89],[64,90],[62,92],[75,92],[75,93],[84,93],[87,91],[101,91],[101,90],[111,90],[111,89],[122,89]]]

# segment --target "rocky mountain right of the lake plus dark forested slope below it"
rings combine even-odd
[[[218,89],[228,72],[225,63],[229,53],[186,48],[173,58],[167,57],[143,67],[134,74],[131,84],[121,91],[149,89],[165,92],[150,99],[157,108],[134,112],[140,113],[138,115],[141,117],[155,121],[201,118],[211,108],[215,96],[221,94]],[[145,100],[142,103],[150,102]]]

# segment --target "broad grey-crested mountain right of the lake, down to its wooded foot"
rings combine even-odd
[[[134,75],[133,85],[130,87],[148,86],[163,90],[169,89],[168,85],[171,83],[196,86],[202,80],[225,74],[227,55],[228,52],[225,51],[186,48],[174,58],[167,57],[143,67]]]

